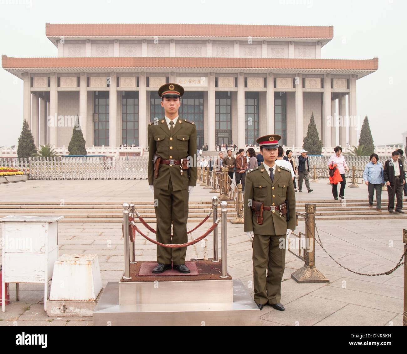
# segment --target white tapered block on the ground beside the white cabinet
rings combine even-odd
[[[55,261],[51,301],[95,301],[101,289],[96,254],[65,254]]]

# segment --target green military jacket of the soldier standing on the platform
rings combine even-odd
[[[152,121],[148,126],[148,140],[149,185],[154,185],[154,188],[167,190],[170,176],[174,191],[188,189],[188,185],[197,185],[197,167],[194,158],[197,153],[197,127],[194,122],[178,117],[173,133],[170,135],[170,130],[165,119]],[[190,161],[190,178],[188,179],[187,170],[184,170],[181,175],[179,165],[170,166],[163,164],[160,165],[158,178],[154,178],[154,153],[161,156],[163,160],[181,160],[190,156],[188,160]]]

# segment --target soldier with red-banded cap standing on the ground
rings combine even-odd
[[[295,192],[291,171],[275,163],[280,139],[281,136],[274,134],[256,140],[264,162],[248,171],[246,176],[244,227],[253,241],[254,301],[260,310],[268,303],[284,311],[280,300],[285,244],[286,237],[295,229]],[[264,203],[261,224],[256,211],[253,211],[255,201]],[[284,202],[288,204],[288,222],[284,215]],[[259,211],[257,213],[260,214]]]

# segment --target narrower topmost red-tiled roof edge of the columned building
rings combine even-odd
[[[333,26],[271,26],[249,24],[50,24],[47,37],[54,36],[185,36],[333,38]]]

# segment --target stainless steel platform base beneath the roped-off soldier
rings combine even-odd
[[[202,283],[209,285],[211,281]],[[228,283],[227,281],[218,281]],[[182,288],[190,286],[182,283],[195,284],[195,291],[199,290],[203,301],[205,295],[208,299],[211,294],[205,284],[200,281],[168,282],[178,283],[168,286]],[[120,286],[123,286],[121,283]],[[131,283],[127,283],[129,285]],[[153,283],[150,283],[153,285]],[[160,287],[162,283],[158,286]],[[135,289],[135,288],[133,288]],[[126,288],[131,290],[131,288]],[[155,289],[157,290],[157,289]],[[226,290],[226,289],[225,289]],[[171,290],[176,293],[176,290]],[[174,292],[175,291],[175,292]],[[230,293],[230,290],[228,291]],[[225,302],[198,302],[194,303],[129,303],[131,297],[125,296],[119,303],[119,283],[109,282],[103,290],[101,298],[93,312],[94,325],[258,325],[259,310],[241,280],[233,280],[233,299]],[[162,293],[164,294],[164,292]],[[225,294],[227,298],[227,294]],[[132,299],[137,299],[135,295]],[[144,297],[147,300],[147,297]],[[155,298],[157,299],[157,298]],[[219,299],[225,299],[221,296]],[[153,300],[153,299],[152,299]],[[155,300],[153,300],[155,301]],[[171,297],[167,297],[167,302]],[[213,301],[213,298],[212,298]],[[223,300],[222,300],[223,301]],[[152,301],[151,301],[152,302]]]

